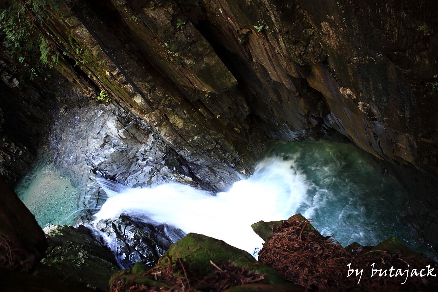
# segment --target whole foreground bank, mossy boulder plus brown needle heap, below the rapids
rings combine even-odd
[[[334,239],[322,236],[300,214],[278,222],[258,222],[253,228],[263,237],[270,232],[259,260],[222,240],[189,233],[171,245],[154,267],[135,263],[131,269],[115,273],[110,291],[380,291],[392,287],[432,291],[438,287],[435,278],[425,275],[410,276],[402,285],[406,277],[370,277],[369,271],[361,278],[348,274],[348,264],[371,270],[374,263],[403,272],[406,268],[427,269],[428,264],[438,268],[433,259],[414,253],[394,237],[367,249],[352,244],[348,252]]]

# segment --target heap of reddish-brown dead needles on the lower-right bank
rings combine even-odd
[[[377,269],[394,267],[403,271],[408,264],[411,270],[422,269],[429,263],[420,264],[413,256],[382,250],[365,252],[360,248],[354,253],[347,253],[336,240],[308,228],[309,222],[311,220],[300,218],[284,221],[274,229],[273,235],[258,254],[258,260],[291,282],[303,285],[308,291],[349,291],[359,287],[385,292],[432,291],[438,287],[436,277],[408,277],[403,285],[401,283],[405,277],[380,277],[377,273],[371,278],[373,263]],[[361,278],[356,273],[347,277],[347,265],[350,263],[352,269],[363,269]]]

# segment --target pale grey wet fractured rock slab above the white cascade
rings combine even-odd
[[[115,104],[85,102],[64,109],[53,125],[50,141],[55,165],[79,187],[78,207],[90,213],[106,199],[92,180],[96,175],[133,187],[178,181],[218,190],[233,181],[226,170],[188,162],[157,137],[148,123]]]

